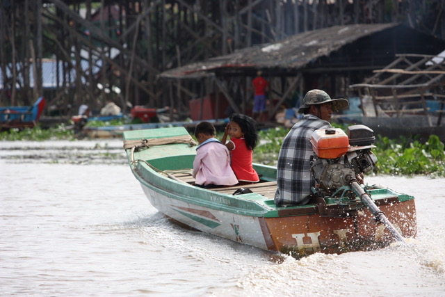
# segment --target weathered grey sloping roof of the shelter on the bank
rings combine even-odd
[[[167,70],[159,77],[193,79],[215,74],[253,75],[256,70],[292,75],[350,42],[394,26],[397,24],[355,24],[308,31],[274,44],[240,49],[233,54]]]

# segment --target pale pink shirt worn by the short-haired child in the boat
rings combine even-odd
[[[211,139],[196,149],[195,161],[193,161],[195,183],[204,186],[208,184],[221,186],[238,184],[238,179],[230,167],[229,150],[216,138]]]

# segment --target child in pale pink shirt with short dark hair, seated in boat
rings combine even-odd
[[[193,161],[196,186],[210,188],[238,184],[238,179],[230,167],[229,150],[215,136],[215,127],[210,122],[200,122],[196,125],[195,138],[200,144]]]

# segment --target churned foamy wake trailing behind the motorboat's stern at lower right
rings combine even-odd
[[[445,244],[444,236],[437,242],[430,235],[367,252],[316,253],[300,260],[286,256],[282,262],[245,274],[237,287],[252,296],[356,296],[358,291],[362,296],[434,294],[437,280],[445,274]]]

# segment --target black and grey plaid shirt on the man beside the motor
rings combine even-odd
[[[310,157],[314,154],[310,143],[312,132],[332,127],[315,115],[303,115],[284,138],[278,155],[277,192],[275,204],[305,204],[315,179],[311,172]]]

